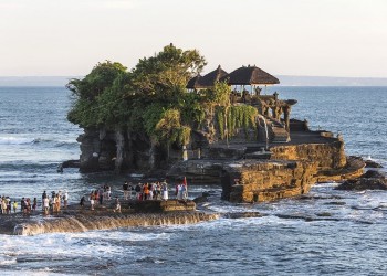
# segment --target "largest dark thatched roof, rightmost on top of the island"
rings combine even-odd
[[[279,84],[280,81],[257,66],[240,67],[222,77],[220,81],[228,79],[230,85],[268,85]]]

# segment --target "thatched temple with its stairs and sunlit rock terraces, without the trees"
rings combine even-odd
[[[295,99],[279,99],[266,86],[280,81],[257,66],[242,66],[231,73],[219,65],[205,76],[190,79],[187,89],[200,93],[217,82],[231,86],[233,107],[254,107],[257,129],[237,129],[232,139],[209,139],[197,131],[184,153],[184,160],[168,171],[178,181],[186,176],[191,182],[219,183],[222,198],[232,202],[272,201],[307,193],[318,181],[358,177],[364,163],[344,152],[341,135],[313,131],[306,120],[291,119]]]

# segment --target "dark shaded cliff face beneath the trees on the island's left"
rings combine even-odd
[[[192,145],[200,144],[202,137],[192,136]],[[148,137],[116,128],[85,128],[77,141],[81,144],[81,172],[96,171],[147,171],[167,168],[169,163],[181,160],[181,149],[174,145],[169,150],[154,144]],[[190,150],[189,157],[198,155]]]

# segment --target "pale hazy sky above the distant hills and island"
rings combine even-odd
[[[207,72],[387,77],[387,0],[0,0],[0,76],[132,68],[170,42]]]

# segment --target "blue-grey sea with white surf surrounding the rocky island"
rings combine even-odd
[[[387,87],[270,87],[297,99],[292,117],[314,130],[341,134],[347,155],[387,167]],[[0,87],[0,194],[38,199],[69,191],[70,202],[101,184],[122,197],[129,176],[56,172],[77,159],[83,132],[66,119],[64,87]],[[385,171],[385,169],[380,169]],[[133,176],[132,176],[133,177]],[[218,185],[190,184],[194,199],[209,191],[206,212],[260,212],[262,217],[83,233],[0,234],[1,275],[386,275],[387,191],[337,191],[316,183],[310,199],[232,204]],[[305,220],[312,217],[313,220]],[[1,220],[1,216],[0,216]]]

